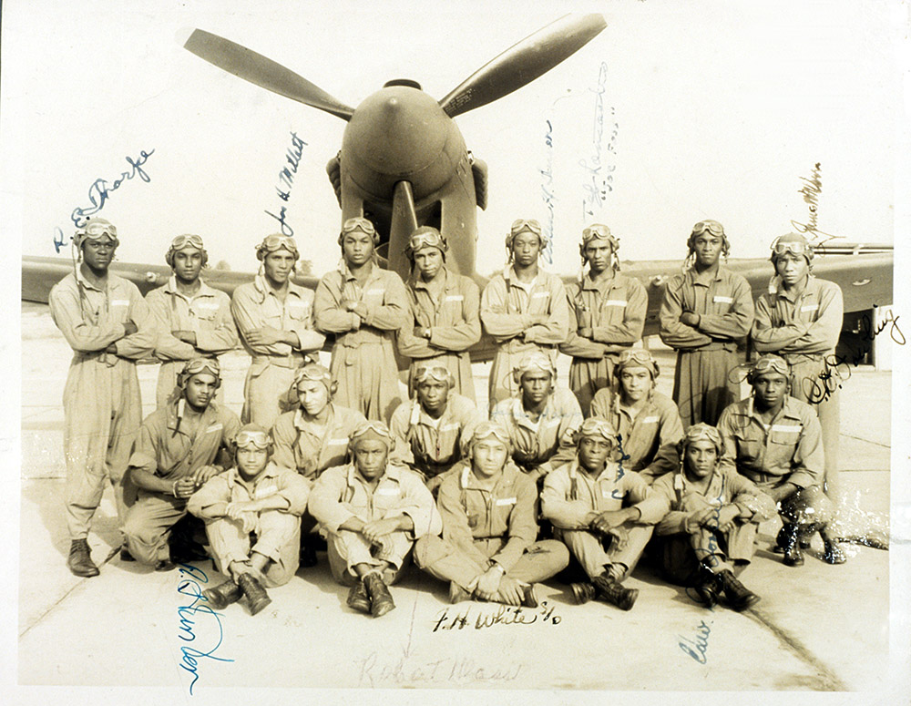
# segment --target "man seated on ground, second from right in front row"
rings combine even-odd
[[[606,421],[586,419],[577,437],[576,457],[544,479],[541,514],[589,576],[590,582],[572,584],[577,602],[597,597],[629,610],[639,590],[620,582],[639,561],[667,502],[638,473],[608,460],[617,433]]]

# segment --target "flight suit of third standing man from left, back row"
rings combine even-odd
[[[290,408],[288,392],[294,373],[304,363],[304,353],[319,352],[325,343],[325,336],[313,329],[313,292],[289,281],[285,301],[281,302],[265,276],[258,274],[234,290],[230,311],[241,343],[252,357],[243,384],[241,419],[244,424],[270,429],[279,414]],[[288,343],[251,345],[248,334],[262,326],[296,333],[300,348]]]

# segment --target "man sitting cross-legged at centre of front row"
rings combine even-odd
[[[415,563],[450,581],[453,603],[475,598],[535,608],[535,583],[569,562],[562,543],[535,541],[537,487],[509,460],[509,446],[501,426],[476,427],[468,457],[440,484],[443,537],[415,544]]]

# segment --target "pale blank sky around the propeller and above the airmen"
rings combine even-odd
[[[4,4],[3,197],[24,254],[55,255],[56,229],[68,241],[92,183],[117,179],[145,150],[148,182],[125,181],[98,213],[118,227],[119,260],[161,264],[174,235],[196,232],[213,262],[254,271],[254,244],[278,230],[265,211],[286,205],[320,274],[339,254],[324,168],[345,123],[190,54],[189,31],[230,38],[356,107],[395,77],[443,97],[568,9],[600,12],[608,27],[544,77],[455,120],[489,169],[478,271],[503,266],[512,220],[550,220],[544,187],[553,271],[578,269],[580,231],[593,221],[619,236],[625,260],[682,258],[705,218],[722,221],[732,257],[764,257],[791,220],[807,222],[799,189],[816,162],[819,230],[895,237],[907,122],[896,46],[907,16],[894,2],[151,5]],[[292,131],[307,146],[283,204],[275,187]],[[588,214],[583,165],[595,159],[613,179]]]

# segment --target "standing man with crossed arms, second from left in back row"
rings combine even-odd
[[[167,284],[146,294],[148,308],[159,323],[155,355],[161,360],[155,393],[158,409],[168,404],[184,363],[193,358],[217,357],[237,347],[237,327],[230,298],[200,279],[209,253],[198,235],[171,240],[165,261],[173,274]],[[221,388],[216,400],[221,402]]]

